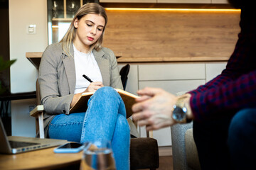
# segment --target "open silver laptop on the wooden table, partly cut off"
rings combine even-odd
[[[63,145],[67,140],[41,139],[36,137],[8,136],[4,130],[4,124],[0,117],[0,153],[18,154],[37,149]]]

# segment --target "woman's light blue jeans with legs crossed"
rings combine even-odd
[[[98,89],[88,101],[86,113],[56,115],[48,134],[73,142],[110,140],[117,170],[129,169],[129,124],[124,102],[112,87]]]

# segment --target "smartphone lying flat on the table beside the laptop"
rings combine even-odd
[[[68,142],[64,145],[60,145],[55,148],[53,152],[55,153],[78,153],[84,148],[84,145],[78,142]]]

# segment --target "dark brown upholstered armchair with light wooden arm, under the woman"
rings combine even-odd
[[[128,66],[127,66],[128,65]],[[129,73],[129,64],[127,64],[120,70],[122,78],[122,84],[125,88],[127,82],[127,74]],[[41,105],[39,83],[36,81],[36,108],[31,111],[30,115],[36,118],[36,133],[40,138],[44,138],[43,130],[43,105]],[[127,118],[128,121],[131,119]],[[159,168],[159,150],[157,141],[154,138],[149,137],[147,133],[146,137],[134,137],[131,139],[130,145],[130,168],[131,169],[157,169]]]

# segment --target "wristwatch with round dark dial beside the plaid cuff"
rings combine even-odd
[[[190,123],[191,119],[187,118],[188,109],[185,105],[185,99],[187,98],[186,95],[178,97],[178,100],[174,104],[172,118],[177,123]]]

